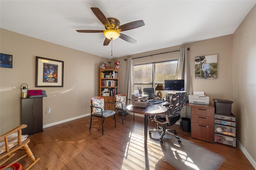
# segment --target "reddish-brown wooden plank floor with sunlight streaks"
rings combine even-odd
[[[29,146],[36,158],[40,158],[32,170],[163,170],[175,169],[164,162],[157,153],[144,148],[144,118],[127,115],[122,125],[122,117],[116,115],[116,128],[113,118],[106,118],[104,135],[101,121],[93,117],[89,130],[90,117],[84,117],[60,125],[44,128],[43,132],[29,135]],[[148,128],[155,128],[149,121]],[[169,127],[170,128],[170,127]],[[190,137],[190,132],[182,131],[179,125],[172,125],[178,136],[216,152],[226,158],[220,170],[254,170],[240,148],[217,143],[208,143]],[[150,137],[148,136],[148,140]],[[18,151],[22,152],[22,151]],[[160,152],[160,151],[159,151]],[[20,153],[18,153],[19,155]],[[23,158],[20,164],[26,167],[29,159]],[[147,167],[147,168],[145,168]]]

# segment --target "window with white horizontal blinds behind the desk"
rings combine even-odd
[[[139,64],[133,66],[133,88],[138,93],[138,87],[156,88],[157,84],[163,84],[164,80],[176,78],[178,59],[161,61],[156,63]],[[164,91],[162,91],[165,96]]]

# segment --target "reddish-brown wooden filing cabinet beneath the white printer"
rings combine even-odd
[[[214,107],[191,106],[191,137],[214,143]]]

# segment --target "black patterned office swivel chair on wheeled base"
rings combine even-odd
[[[178,143],[181,143],[180,138],[176,135],[176,130],[166,129],[167,126],[175,124],[180,119],[180,111],[188,98],[188,93],[186,91],[178,92],[172,95],[170,100],[170,105],[166,105],[168,110],[162,115],[148,115],[151,121],[157,123],[157,129],[149,130],[149,135],[151,137],[151,132],[161,132],[160,144],[163,143],[162,138],[165,134],[169,134],[178,139]],[[158,124],[163,125],[163,127],[158,126]],[[174,134],[171,132],[173,131]]]

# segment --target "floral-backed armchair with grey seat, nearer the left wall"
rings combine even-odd
[[[114,115],[114,120],[115,120],[115,127],[116,127],[116,112],[111,111],[111,110],[105,110],[105,105],[106,103],[112,103],[114,105],[114,108],[116,107],[116,103],[114,102],[105,102],[104,103],[104,97],[99,96],[99,97],[92,97],[91,98],[91,123],[90,123],[90,128],[92,126],[92,117],[101,117],[102,120],[102,135],[104,135],[103,131],[103,123],[106,117],[110,117]]]

